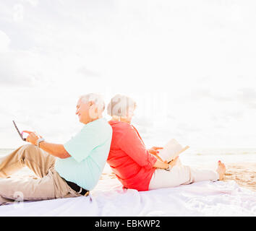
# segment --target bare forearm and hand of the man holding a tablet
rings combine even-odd
[[[38,139],[41,137],[35,134],[35,132],[33,131],[23,131],[23,132],[26,132],[29,134],[27,136],[26,141],[34,145],[37,144]],[[61,159],[71,157],[70,154],[67,152],[67,150],[64,149],[64,146],[62,144],[51,144],[46,141],[42,141],[40,142],[39,147],[44,151],[48,152],[48,154],[53,155],[54,157],[59,157]]]

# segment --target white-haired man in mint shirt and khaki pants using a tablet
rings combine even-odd
[[[112,129],[102,117],[104,108],[100,95],[80,97],[76,115],[85,126],[64,145],[24,131],[31,144],[0,159],[0,205],[14,200],[87,196],[100,179],[111,145]],[[9,177],[24,166],[38,178]]]

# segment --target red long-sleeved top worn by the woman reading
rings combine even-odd
[[[120,121],[108,123],[113,129],[108,165],[125,188],[148,191],[157,159],[148,152],[134,126]]]

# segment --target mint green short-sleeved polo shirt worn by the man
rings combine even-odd
[[[112,128],[105,118],[85,124],[64,148],[71,157],[57,158],[55,169],[65,180],[92,190],[101,177],[111,145]]]

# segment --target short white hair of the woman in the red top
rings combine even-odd
[[[136,108],[135,100],[125,95],[115,95],[108,103],[108,115],[126,117]]]

